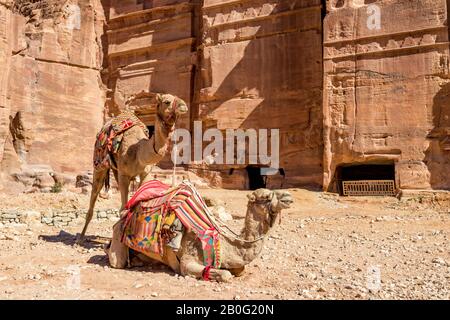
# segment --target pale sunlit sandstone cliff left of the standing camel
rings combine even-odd
[[[92,166],[104,24],[100,0],[0,1],[3,179],[36,165],[69,173]]]

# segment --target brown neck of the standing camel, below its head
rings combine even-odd
[[[142,161],[145,164],[155,164],[166,155],[173,134],[172,128],[168,128],[156,117],[155,133],[148,140],[148,146],[143,150]]]

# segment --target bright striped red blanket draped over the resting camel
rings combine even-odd
[[[122,216],[122,242],[129,248],[162,256],[170,241],[163,232],[164,226],[172,224],[175,215],[200,240],[203,264],[220,267],[219,232],[208,218],[203,198],[189,182],[183,181],[171,189],[159,181],[146,182],[127,203],[126,210]]]

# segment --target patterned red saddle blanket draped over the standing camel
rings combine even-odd
[[[109,120],[97,134],[94,147],[94,168],[111,168],[112,154],[119,151],[123,133],[131,127],[138,125],[148,137],[148,129],[141,120],[131,111],[124,111],[117,117]]]

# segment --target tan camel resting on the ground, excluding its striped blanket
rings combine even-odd
[[[243,274],[245,266],[261,253],[264,238],[274,226],[281,210],[289,208],[292,196],[286,191],[258,189],[248,195],[247,214],[240,235],[220,236],[220,269],[211,268],[209,279],[227,282],[233,276]],[[113,240],[105,249],[114,268],[125,268],[129,260],[128,247],[121,243],[122,225],[119,221],[113,228]],[[174,252],[165,246],[163,256],[139,253],[140,260],[157,260],[169,266],[174,272],[194,278],[204,277],[203,251],[200,240],[192,231],[185,231],[180,250]]]

